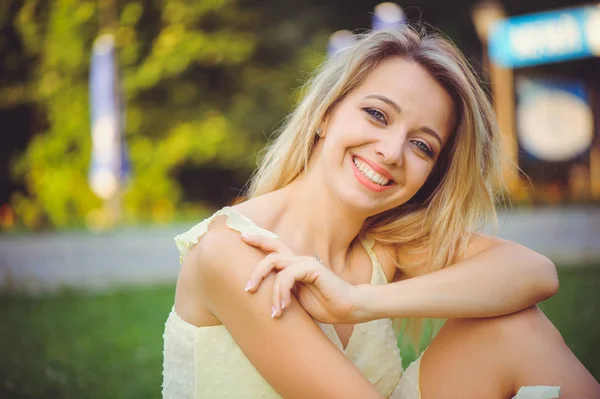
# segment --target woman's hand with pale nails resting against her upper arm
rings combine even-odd
[[[347,283],[312,256],[296,256],[279,239],[265,236],[244,236],[243,241],[267,256],[256,266],[246,291],[258,290],[263,279],[277,272],[273,285],[271,317],[281,317],[291,304],[294,293],[300,305],[322,323],[357,323],[355,298],[357,287]]]

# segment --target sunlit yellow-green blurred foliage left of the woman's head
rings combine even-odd
[[[0,28],[10,25],[22,46],[0,46],[0,54],[28,65],[22,82],[0,81],[0,106],[33,104],[39,119],[12,165],[25,190],[11,204],[26,228],[81,225],[102,206],[87,171],[88,71],[103,31],[116,36],[126,103],[132,178],[123,194],[125,222],[196,215],[215,186],[230,183],[218,174],[192,179],[186,184],[202,185],[203,194],[189,200],[182,171],[217,165],[243,182],[291,107],[301,71],[311,70],[325,48],[325,36],[314,32],[307,40],[293,26],[274,24],[279,36],[273,27],[261,29],[264,13],[237,0],[29,0],[0,7]],[[261,35],[283,35],[294,51]]]

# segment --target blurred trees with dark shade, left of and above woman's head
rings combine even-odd
[[[101,206],[87,181],[88,71],[93,41],[107,27],[117,40],[132,164],[124,222],[168,222],[239,195],[328,36],[369,28],[377,3],[3,0],[0,205],[10,204],[16,222],[0,226],[79,226]],[[441,29],[480,70],[473,3],[400,2],[410,20]],[[509,15],[579,3],[504,1]]]

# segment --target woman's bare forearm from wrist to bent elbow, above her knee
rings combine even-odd
[[[557,284],[545,257],[514,243],[499,244],[437,272],[358,286],[356,313],[364,320],[499,316],[547,299]]]

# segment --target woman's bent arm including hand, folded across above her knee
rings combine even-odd
[[[247,237],[249,245],[277,256],[266,257],[252,273],[250,292],[278,271],[272,304],[276,316],[283,313],[280,303],[290,297],[296,282],[297,298],[304,309],[325,323],[361,323],[382,318],[492,317],[516,312],[556,293],[558,279],[554,264],[546,257],[521,245],[489,236],[477,236],[464,258],[445,269],[428,273],[425,268],[402,269],[401,281],[384,285],[352,286],[310,257],[293,256],[279,240]],[[396,263],[376,251],[393,276]],[[399,254],[400,263],[414,262]]]

